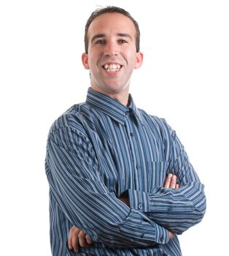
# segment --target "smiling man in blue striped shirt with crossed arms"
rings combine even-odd
[[[58,118],[47,140],[53,255],[179,256],[177,234],[203,218],[203,185],[176,133],[129,94],[139,37],[118,7],[86,24],[86,102]]]

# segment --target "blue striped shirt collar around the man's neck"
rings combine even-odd
[[[133,113],[136,114],[142,123],[141,114],[139,113],[138,108],[136,108],[131,94],[129,94],[128,102],[129,107],[126,107],[122,103],[117,102],[117,100],[112,99],[105,94],[101,94],[98,91],[94,91],[91,88],[88,89],[88,95],[86,99],[86,103],[90,105],[90,107],[103,112],[107,116],[113,118],[115,121],[118,121],[120,124],[125,123],[126,113],[128,113],[130,109],[133,111]]]

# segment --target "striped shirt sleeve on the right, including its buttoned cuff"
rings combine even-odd
[[[201,222],[206,211],[206,197],[204,186],[174,131],[170,141],[167,143],[169,157],[166,173],[177,176],[179,189],[165,189],[163,184],[150,192],[129,189],[128,197],[131,208],[141,211],[168,230],[181,234]]]

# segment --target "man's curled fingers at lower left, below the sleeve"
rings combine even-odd
[[[88,234],[79,230],[78,227],[71,227],[69,231],[68,246],[69,249],[74,249],[74,252],[79,252],[79,246],[90,247],[93,244]]]

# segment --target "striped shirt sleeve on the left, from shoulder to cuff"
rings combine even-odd
[[[112,247],[166,244],[168,230],[109,192],[88,137],[70,127],[50,132],[46,173],[50,193],[72,225]]]

